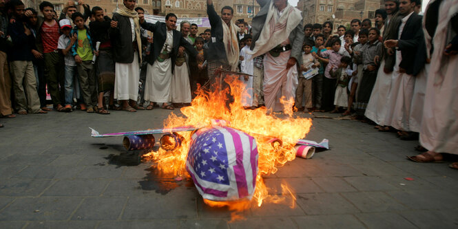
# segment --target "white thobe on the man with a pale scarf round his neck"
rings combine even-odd
[[[132,42],[136,39],[134,19],[129,18],[132,32]],[[138,52],[134,52],[132,63],[115,64],[114,98],[118,100],[137,100],[138,82],[140,80],[140,64]]]

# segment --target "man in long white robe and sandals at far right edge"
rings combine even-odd
[[[430,69],[420,129],[420,144],[428,151],[408,157],[414,162],[438,162],[442,153],[458,154],[458,0],[430,1],[423,19]],[[455,27],[454,27],[455,26]],[[450,164],[458,169],[458,162]]]

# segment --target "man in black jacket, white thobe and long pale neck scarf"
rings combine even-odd
[[[140,23],[134,10],[136,1],[124,0],[123,3],[113,14],[109,30],[116,62],[114,98],[123,100],[123,110],[135,112],[139,108],[136,101],[142,52]]]

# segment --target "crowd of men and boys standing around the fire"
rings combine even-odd
[[[83,12],[69,1],[58,18],[48,1],[39,14],[0,0],[1,116],[51,111],[46,89],[56,111],[174,109],[190,105],[219,68],[244,73],[246,109],[375,123],[402,140],[420,138],[417,150],[426,153],[408,157],[415,162],[457,153],[457,84],[449,76],[457,67],[456,0],[431,1],[425,18],[419,0],[386,0],[374,25],[353,19],[336,34],[331,21],[303,26],[287,0],[257,1],[249,25],[207,0],[211,28],[198,34],[188,21],[178,31],[173,13],[148,23],[136,0],[124,0],[112,18],[83,1]]]

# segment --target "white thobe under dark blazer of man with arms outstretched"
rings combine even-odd
[[[166,46],[167,45],[167,46]],[[161,53],[167,47],[167,52],[171,52],[174,45],[173,30],[167,30]],[[171,102],[171,58],[163,62],[154,61],[153,65],[148,64],[146,70],[145,100],[150,102]]]

